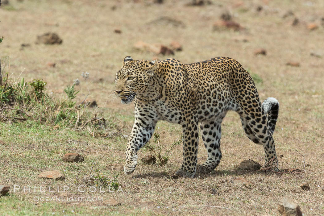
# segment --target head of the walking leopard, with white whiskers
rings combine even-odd
[[[132,57],[126,56],[123,66],[116,74],[115,94],[121,97],[121,103],[129,104],[138,97],[147,96],[146,90],[151,85],[150,77],[154,75],[158,63],[156,60],[133,60]]]

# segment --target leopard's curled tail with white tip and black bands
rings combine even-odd
[[[278,119],[279,102],[274,97],[268,97],[263,101],[262,107],[268,116],[269,129],[270,132],[273,134]]]

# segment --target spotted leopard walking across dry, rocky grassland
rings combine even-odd
[[[179,60],[133,60],[126,56],[116,73],[113,94],[122,104],[134,104],[134,124],[126,147],[124,173],[132,174],[137,152],[150,140],[156,123],[182,127],[183,161],[178,176],[211,173],[222,158],[221,124],[228,111],[238,113],[247,137],[263,145],[265,164],[278,169],[273,133],[279,102],[261,104],[252,76],[236,60],[215,57],[183,64]],[[207,159],[197,164],[199,128]]]

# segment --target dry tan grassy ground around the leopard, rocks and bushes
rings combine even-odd
[[[125,56],[148,60],[173,57],[182,63],[216,56],[234,58],[262,79],[257,83],[262,100],[278,99],[280,113],[274,140],[277,154],[282,155],[279,168],[299,168],[302,174],[238,170],[239,163],[249,158],[262,165],[264,152],[262,146],[245,136],[236,113],[229,113],[223,121],[223,158],[217,170],[193,179],[172,178],[182,161],[181,146],[174,150],[166,166],[139,163],[131,176],[125,176],[120,171],[107,170],[105,165],[124,163],[126,139],[93,138],[88,134],[69,134],[68,130],[55,131],[47,126],[40,126],[38,130],[43,132],[37,136],[30,125],[17,129],[2,124],[0,138],[8,144],[0,144],[1,184],[76,189],[75,175],[96,164],[95,168],[106,176],[119,174],[116,178],[123,190],[113,193],[87,190],[81,194],[114,198],[121,202],[121,206],[115,207],[96,201],[38,203],[33,200],[35,194],[11,191],[9,196],[0,199],[2,214],[279,215],[278,200],[290,196],[304,215],[323,215],[324,2],[224,0],[211,1],[211,5],[186,6],[188,2],[9,0],[10,5],[1,6],[0,11],[0,36],[4,36],[0,45],[2,69],[4,73],[9,72],[11,78],[45,80],[48,92],[55,97],[64,97],[64,87],[80,79],[76,99],[81,101],[89,94],[88,98],[96,100],[107,116],[119,119],[121,132],[129,134],[133,105],[125,106],[108,97]],[[242,26],[241,30],[213,31],[213,24],[225,11]],[[293,15],[287,13],[289,11]],[[174,26],[154,21],[160,17],[170,17],[182,24]],[[295,18],[299,23],[293,26]],[[312,23],[318,28],[310,30],[308,25]],[[120,29],[121,33],[115,33],[115,29]],[[45,32],[56,32],[63,43],[35,44],[37,35]],[[166,56],[139,51],[133,45],[140,40],[167,46],[176,40],[183,50]],[[30,46],[22,49],[21,44]],[[254,51],[261,48],[266,50],[266,55],[255,55]],[[55,67],[48,66],[48,62],[56,63]],[[290,66],[288,62],[300,65]],[[81,77],[86,71],[89,73],[87,82]],[[159,122],[156,132],[165,146],[171,145],[181,134],[178,125],[167,122]],[[78,142],[70,146],[66,144],[69,139],[81,139],[88,144]],[[199,163],[204,162],[206,155],[201,141]],[[67,147],[98,153],[79,152],[85,156],[84,163],[66,164],[60,158]],[[141,150],[139,158],[145,154]],[[44,181],[37,177],[40,171],[49,169],[61,170],[66,180]],[[244,177],[254,185],[237,186],[231,182],[236,177]],[[300,188],[304,182],[309,182],[310,191]],[[212,188],[218,194],[213,194]],[[71,192],[71,195],[80,194]]]

